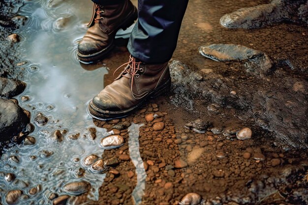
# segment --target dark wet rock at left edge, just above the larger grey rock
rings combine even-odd
[[[26,84],[21,81],[0,77],[0,96],[11,98],[24,91]]]

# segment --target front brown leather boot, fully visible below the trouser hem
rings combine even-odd
[[[130,56],[124,65],[126,67],[115,81],[98,93],[88,105],[89,114],[93,118],[108,120],[125,117],[147,98],[156,97],[170,88],[168,62],[147,64]]]

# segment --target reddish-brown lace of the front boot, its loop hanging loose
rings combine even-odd
[[[148,94],[148,92],[146,93],[142,93],[142,94],[136,94],[134,93],[133,91],[133,85],[134,85],[134,79],[135,78],[139,78],[140,77],[140,74],[137,73],[138,71],[140,72],[143,72],[144,71],[144,68],[143,67],[140,67],[140,64],[142,64],[143,62],[142,61],[136,61],[136,58],[132,57],[132,56],[129,56],[129,60],[128,62],[124,63],[123,65],[121,65],[120,67],[118,67],[114,72],[113,72],[113,78],[114,79],[119,79],[120,76],[123,76],[125,78],[131,78],[131,85],[130,85],[130,91],[131,93],[133,94],[133,97],[136,99],[136,100],[139,100],[141,98],[143,98],[145,95]],[[126,65],[126,66],[125,66]],[[124,67],[124,70],[122,71],[122,73],[119,75],[119,77],[115,77],[115,73],[120,69],[122,68],[123,66]],[[131,75],[131,77],[128,77],[126,76],[125,74],[129,73]]]

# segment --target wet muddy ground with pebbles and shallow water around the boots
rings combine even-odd
[[[107,122],[85,108],[126,62],[125,40],[82,64],[75,51],[89,0],[0,2],[0,204],[177,205],[188,193],[205,205],[308,204],[307,1],[281,2],[296,18],[281,20],[277,6],[270,22],[254,19],[262,26],[227,29],[225,14],[271,1],[191,0],[171,93]],[[211,44],[262,55],[214,61],[198,52]],[[252,136],[240,140],[245,127]],[[123,145],[101,146],[112,134]]]

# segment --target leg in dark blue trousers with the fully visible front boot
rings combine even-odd
[[[177,39],[188,0],[139,0],[138,23],[128,51],[131,57],[123,72],[90,102],[90,115],[119,118],[138,109],[149,97],[170,87],[168,61]]]

